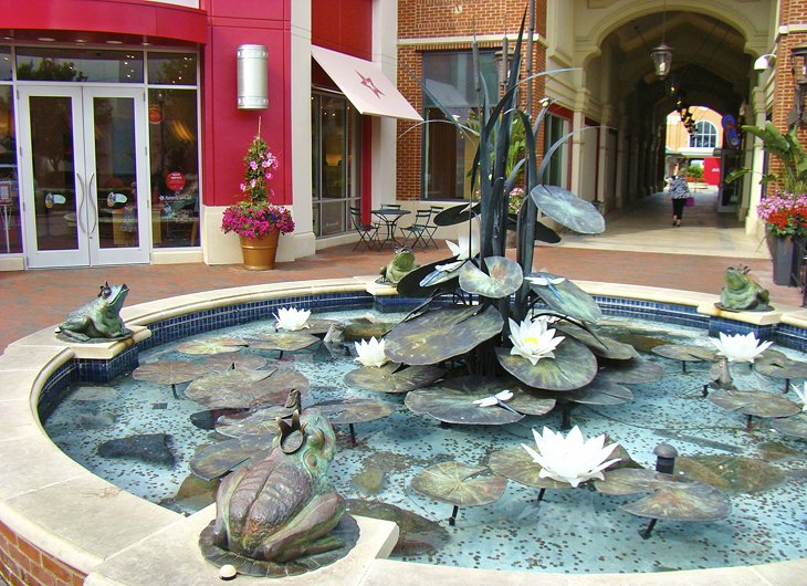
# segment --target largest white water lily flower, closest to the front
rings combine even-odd
[[[559,431],[553,432],[544,427],[543,436],[533,429],[537,451],[522,443],[536,464],[541,467],[538,475],[558,482],[568,482],[577,486],[593,478],[602,480],[602,470],[618,462],[619,458],[606,461],[617,443],[605,444],[605,433],[585,440],[580,429],[575,426],[565,438]]]

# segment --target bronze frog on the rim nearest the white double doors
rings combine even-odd
[[[99,290],[97,297],[67,314],[56,327],[57,334],[80,342],[119,339],[130,334],[120,320],[120,307],[129,287],[125,283],[104,283]]]

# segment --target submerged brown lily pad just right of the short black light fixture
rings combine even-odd
[[[734,493],[763,492],[785,480],[778,468],[742,456],[681,457],[675,459],[675,472],[684,479]]]

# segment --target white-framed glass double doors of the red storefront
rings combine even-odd
[[[19,87],[30,268],[149,262],[145,91]]]

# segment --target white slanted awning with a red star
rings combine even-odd
[[[361,114],[423,119],[378,65],[322,46],[312,45],[311,54]]]

